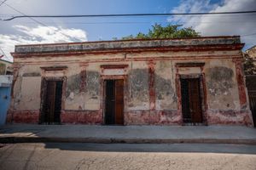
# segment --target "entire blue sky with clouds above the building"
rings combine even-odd
[[[3,0],[0,0],[0,4]],[[256,45],[256,14],[104,17],[104,18],[23,18],[27,14],[142,14],[194,13],[256,10],[256,0],[7,0],[0,6],[0,48],[3,59],[12,60],[15,45],[52,42],[111,40],[138,31],[147,32],[154,23],[162,26],[192,26],[202,36],[240,35],[246,48]]]

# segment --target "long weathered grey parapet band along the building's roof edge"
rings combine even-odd
[[[241,44],[240,37],[195,37],[175,39],[143,39],[102,42],[70,42],[15,46],[15,54],[65,53],[76,51],[122,50],[125,48],[166,48]]]

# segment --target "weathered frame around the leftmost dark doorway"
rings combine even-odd
[[[47,82],[49,81],[62,81],[62,94],[61,94],[61,113],[65,110],[66,99],[66,86],[67,77],[42,77],[41,79],[41,91],[40,91],[40,111],[39,111],[39,123],[44,124],[44,100],[47,94]],[[61,115],[60,115],[61,116]],[[61,123],[61,120],[60,120]]]

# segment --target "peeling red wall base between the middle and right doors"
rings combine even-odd
[[[182,125],[182,116],[177,111],[128,111],[125,125]]]

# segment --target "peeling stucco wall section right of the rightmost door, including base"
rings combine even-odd
[[[241,105],[236,65],[232,59],[212,59],[207,63],[208,124],[252,125],[248,103]],[[248,101],[247,101],[248,102]]]

